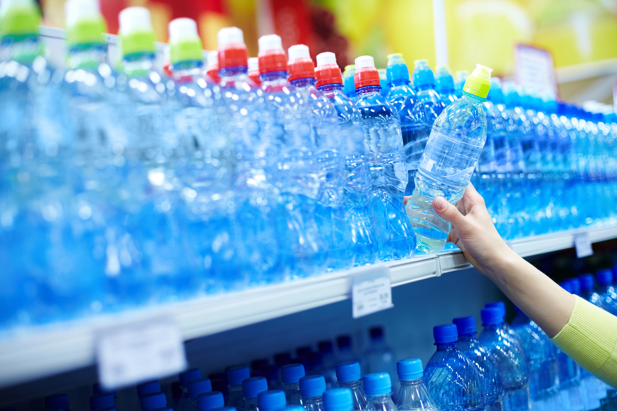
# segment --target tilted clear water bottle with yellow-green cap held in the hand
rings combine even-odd
[[[435,214],[433,199],[442,196],[456,204],[471,180],[486,140],[482,103],[491,87],[491,71],[478,64],[465,83],[463,97],[450,104],[433,125],[406,207],[420,251],[441,251],[450,231],[450,223]]]

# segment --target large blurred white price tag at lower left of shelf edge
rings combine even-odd
[[[167,318],[99,331],[96,357],[99,381],[106,389],[163,378],[186,368],[180,329]]]

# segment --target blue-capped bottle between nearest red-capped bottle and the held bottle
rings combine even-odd
[[[407,187],[405,195],[413,193],[414,181],[418,172],[420,157],[431,133],[433,122],[428,120],[424,104],[410,86],[409,69],[403,55],[389,54],[387,62],[387,80],[390,92],[387,99],[399,114],[400,130],[403,136],[403,150],[407,162]]]

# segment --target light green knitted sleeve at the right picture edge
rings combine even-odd
[[[552,338],[589,373],[617,387],[617,317],[576,297],[568,324]]]

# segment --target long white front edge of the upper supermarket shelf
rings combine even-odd
[[[573,247],[577,233],[587,233],[592,242],[603,241],[617,238],[617,225],[520,239],[510,246],[523,256],[542,254]],[[384,267],[394,287],[471,265],[461,251],[425,254],[238,293],[15,331],[0,340],[0,388],[93,365],[96,335],[106,328],[171,318],[184,340],[193,339],[343,301],[350,297],[355,275]]]

